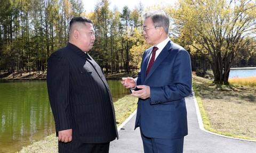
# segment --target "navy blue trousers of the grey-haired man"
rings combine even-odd
[[[145,153],[182,153],[184,137],[178,139],[148,138],[140,130]]]

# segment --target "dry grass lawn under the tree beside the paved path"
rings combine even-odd
[[[193,88],[206,130],[256,140],[256,87],[216,85],[193,75]]]

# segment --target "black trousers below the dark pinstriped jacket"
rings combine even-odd
[[[59,153],[108,153],[109,143],[60,142]]]

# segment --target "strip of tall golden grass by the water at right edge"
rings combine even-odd
[[[229,79],[232,84],[239,84],[242,86],[256,86],[256,77],[232,78]]]

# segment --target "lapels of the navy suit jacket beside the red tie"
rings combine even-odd
[[[172,41],[169,41],[166,44],[166,46],[164,47],[164,49],[162,50],[162,52],[157,56],[153,66],[151,67],[150,71],[148,72],[147,77],[146,77],[146,71],[145,71],[145,77],[146,77],[145,81],[148,80],[150,75],[157,69],[157,67],[163,62],[163,60],[171,53],[170,52],[171,49],[172,49]],[[151,52],[152,52],[152,50],[151,50]],[[147,60],[147,63],[148,63],[148,60]],[[146,70],[147,70],[147,65],[146,65]]]

